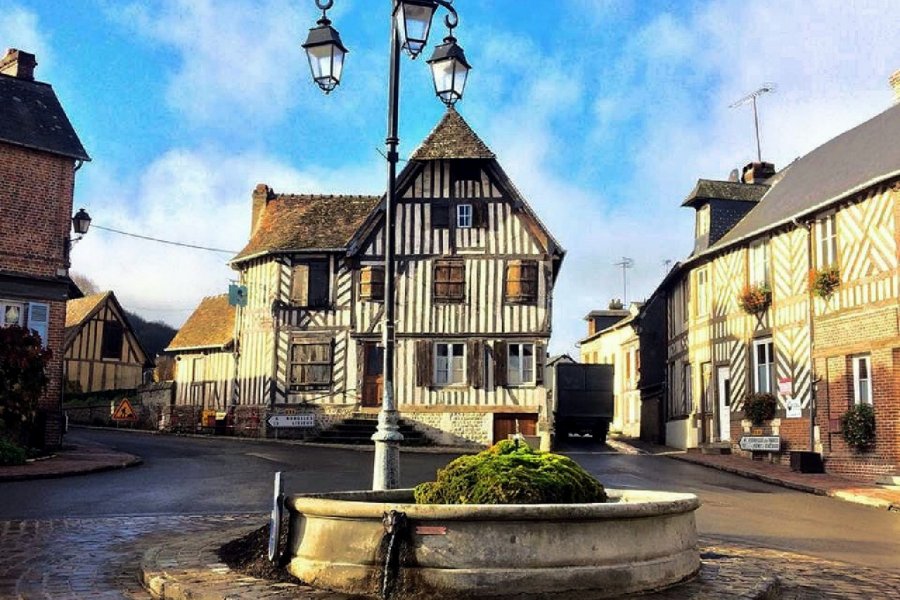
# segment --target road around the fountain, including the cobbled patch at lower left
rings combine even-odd
[[[366,488],[372,453],[214,438],[76,430],[144,458],[140,467],[0,483],[0,598],[144,598],[134,569],[147,541],[268,510],[272,474],[289,491]],[[660,456],[570,442],[608,487],[693,492],[701,534],[900,573],[900,515],[793,492]],[[451,455],[405,454],[405,486]],[[262,522],[262,521],[261,521]],[[127,591],[127,594],[125,593]]]

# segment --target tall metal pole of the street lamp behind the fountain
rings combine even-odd
[[[391,6],[395,5],[391,2]],[[373,490],[392,490],[400,487],[400,442],[403,435],[398,427],[397,403],[394,398],[394,206],[397,191],[397,114],[400,105],[400,42],[396,22],[391,11],[391,72],[388,87],[388,186],[384,205],[384,391],[375,442]]]

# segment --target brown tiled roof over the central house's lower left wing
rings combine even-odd
[[[271,252],[345,248],[380,200],[379,196],[276,195],[232,262]]]

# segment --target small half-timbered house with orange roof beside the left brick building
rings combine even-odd
[[[66,303],[67,392],[135,389],[152,361],[111,291]]]

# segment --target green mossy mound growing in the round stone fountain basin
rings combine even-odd
[[[504,440],[438,470],[416,486],[417,504],[579,504],[606,502],[603,485],[575,461]]]

